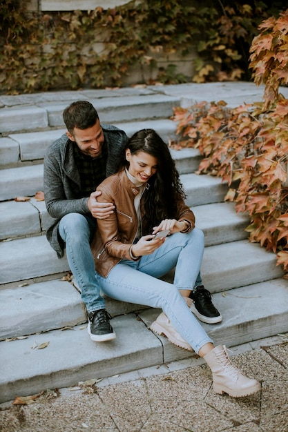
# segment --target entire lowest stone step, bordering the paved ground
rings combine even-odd
[[[203,326],[215,344],[236,346],[288,331],[287,280],[244,286],[225,296],[218,293],[213,302],[223,321]],[[0,342],[0,402],[193,357],[193,352],[149,330],[158,313],[160,310],[146,309],[138,315],[113,318],[117,338],[111,342],[92,342],[83,325]],[[46,348],[38,349],[45,343]]]

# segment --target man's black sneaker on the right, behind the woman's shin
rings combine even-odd
[[[215,324],[222,321],[220,312],[212,303],[211,294],[203,285],[191,291],[189,298],[193,300],[190,307],[191,312],[198,317],[198,320],[207,322],[207,324]]]

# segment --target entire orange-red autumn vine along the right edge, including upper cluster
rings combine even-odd
[[[227,108],[223,101],[175,108],[177,146],[198,148],[198,173],[222,177],[225,199],[248,213],[251,242],[277,253],[288,271],[288,10],[264,21],[251,45],[253,79],[265,84],[263,101]]]

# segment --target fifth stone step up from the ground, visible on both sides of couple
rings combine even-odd
[[[171,149],[171,155],[180,174],[196,170],[200,162],[200,153],[194,148]],[[18,166],[0,170],[0,202],[15,197],[32,197],[43,190],[43,164]]]

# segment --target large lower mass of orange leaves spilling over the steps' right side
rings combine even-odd
[[[175,108],[178,146],[193,146],[204,156],[198,173],[222,177],[230,188],[225,199],[247,212],[251,242],[278,252],[288,270],[288,101],[229,109],[202,102]]]

